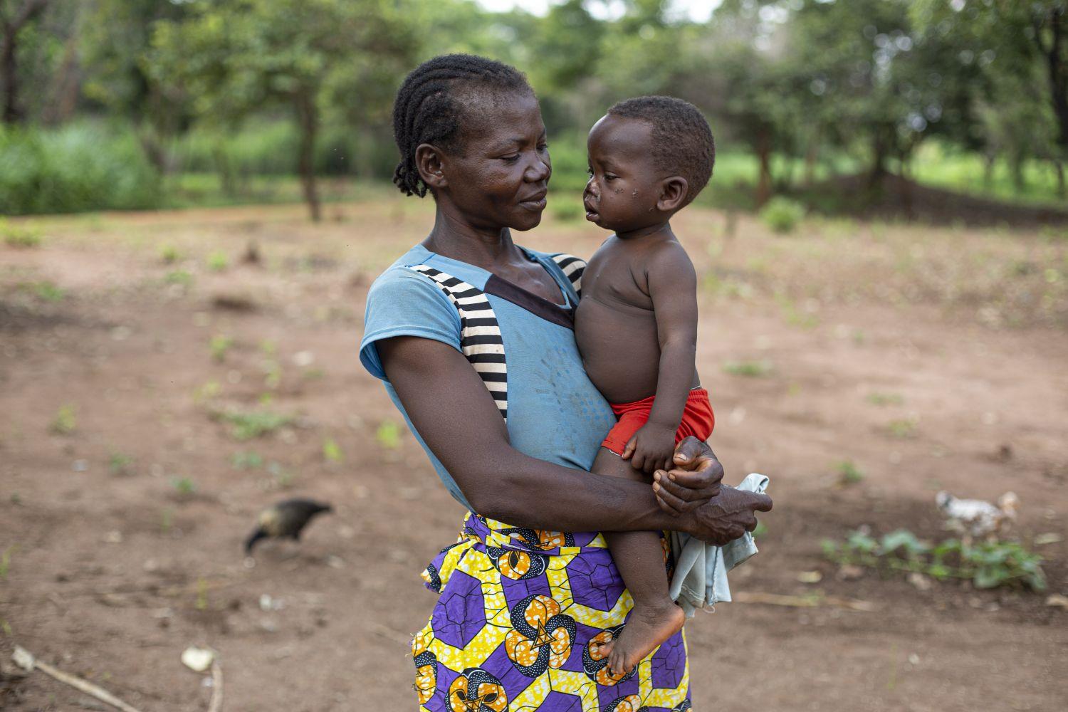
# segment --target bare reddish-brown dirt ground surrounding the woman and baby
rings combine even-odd
[[[433,213],[378,192],[326,212],[37,220],[40,247],[0,246],[4,670],[18,644],[145,712],[204,710],[179,662],[202,645],[231,712],[413,709],[407,644],[434,601],[418,573],[461,510],[357,343],[370,281]],[[940,489],[1014,490],[1016,536],[1066,534],[1068,235],[813,220],[779,237],[696,208],[676,228],[726,480],[772,478],[733,587],[814,603],[692,621],[694,709],[1066,709],[1068,610],[1046,603],[1068,594],[1064,538],[1036,547],[1045,594],[843,580],[820,540],[944,537]],[[601,237],[550,216],[522,241],[588,256]],[[292,420],[239,441],[235,410]],[[862,481],[839,484],[843,460]],[[295,495],[335,511],[246,560],[256,512]],[[0,707],[105,709],[41,673],[0,675]]]

